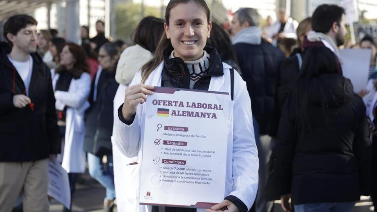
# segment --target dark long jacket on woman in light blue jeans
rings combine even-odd
[[[98,79],[97,100],[93,101],[96,77],[97,74],[90,89],[90,108],[86,111],[84,151],[102,157],[112,155],[113,100],[119,84],[115,81],[115,71],[102,70]]]

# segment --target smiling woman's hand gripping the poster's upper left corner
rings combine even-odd
[[[150,91],[153,88],[153,86],[147,84],[135,84],[134,86],[126,88],[122,108],[124,119],[130,120],[132,118],[136,113],[137,106],[147,101],[147,95],[153,94],[153,92]]]

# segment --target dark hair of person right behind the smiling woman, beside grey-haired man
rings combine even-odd
[[[211,36],[208,39],[208,46],[215,47],[224,63],[240,71],[229,34],[215,22],[212,22],[212,33],[215,36]]]

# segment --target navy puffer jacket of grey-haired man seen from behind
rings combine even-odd
[[[251,98],[251,109],[259,123],[259,133],[269,134],[275,104],[277,72],[285,59],[283,52],[262,40],[260,45],[233,45],[242,78]]]

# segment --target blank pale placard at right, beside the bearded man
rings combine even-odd
[[[351,80],[356,93],[364,89],[368,83],[371,54],[371,49],[340,50],[343,76]]]

